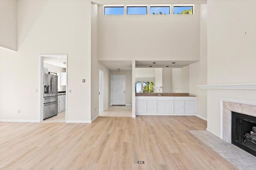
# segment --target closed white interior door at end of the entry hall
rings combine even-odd
[[[112,75],[112,105],[125,105],[126,75]]]

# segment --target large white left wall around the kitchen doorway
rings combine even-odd
[[[90,1],[18,0],[17,8],[18,52],[0,48],[1,82],[8,82],[0,83],[0,89],[5,89],[0,95],[0,119],[38,121],[39,55],[68,54],[68,89],[72,92],[67,93],[67,119],[90,121]]]

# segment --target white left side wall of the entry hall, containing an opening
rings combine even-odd
[[[110,105],[110,89],[111,89],[111,76],[110,70],[99,62],[99,69],[103,71],[103,81],[104,81],[104,99],[103,99],[103,110],[107,109]]]

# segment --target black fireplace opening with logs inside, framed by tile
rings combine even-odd
[[[256,156],[256,117],[231,112],[231,142]]]

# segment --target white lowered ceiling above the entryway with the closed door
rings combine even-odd
[[[105,65],[109,70],[132,70],[132,61],[101,60],[100,63]]]

